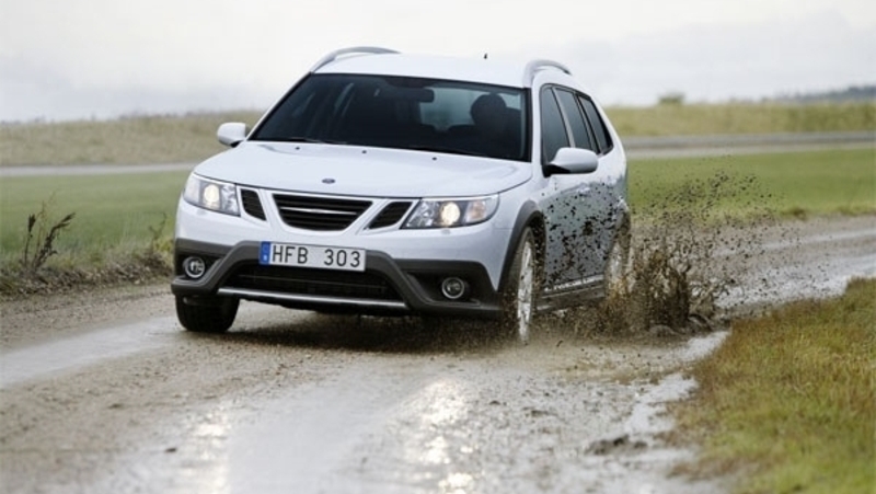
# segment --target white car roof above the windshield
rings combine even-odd
[[[333,58],[332,54],[330,54],[316,64],[313,72],[422,77],[526,88],[531,85],[531,78],[534,71],[544,68],[543,64],[557,69],[565,69],[560,64],[548,60],[535,60],[534,64],[528,65],[495,61],[480,57],[464,58],[385,51],[354,51],[341,54],[336,58]]]

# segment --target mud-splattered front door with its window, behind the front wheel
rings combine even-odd
[[[549,176],[545,221],[545,291],[584,288],[602,274],[607,250],[604,191],[593,174],[552,173],[550,162],[565,147],[592,149],[593,139],[575,93],[558,87],[540,92],[542,164]],[[598,172],[598,170],[597,170]]]

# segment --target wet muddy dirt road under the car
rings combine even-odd
[[[876,276],[876,218],[776,230],[728,300],[757,307]],[[781,234],[780,234],[781,233]],[[181,330],[168,286],[7,302],[2,493],[684,493],[667,401],[723,331],[528,346],[464,328],[244,303]],[[586,314],[584,315],[586,317]]]

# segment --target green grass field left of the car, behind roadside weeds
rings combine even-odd
[[[0,182],[0,250],[8,263],[21,256],[27,216],[43,203],[55,220],[76,212],[56,242],[61,254],[84,264],[100,264],[114,254],[143,248],[150,228],[173,234],[176,200],[187,172],[116,175],[4,177]]]

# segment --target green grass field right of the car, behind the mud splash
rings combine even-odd
[[[631,204],[634,211],[662,206],[675,200],[670,197],[679,184],[706,182],[718,173],[733,177],[727,186],[735,187],[716,198],[716,207],[727,216],[764,210],[791,217],[876,211],[875,149],[632,161]]]

